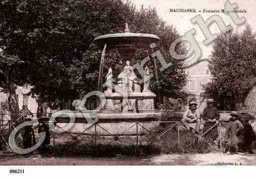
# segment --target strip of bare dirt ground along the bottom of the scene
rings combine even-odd
[[[34,155],[28,158],[4,157],[0,159],[0,165],[256,165],[256,154],[173,154],[147,158],[42,158]]]

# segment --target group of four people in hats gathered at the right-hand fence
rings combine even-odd
[[[216,107],[214,107],[215,101],[213,99],[207,100],[207,107],[204,109],[203,114],[197,108],[198,104],[195,101],[189,103],[189,108],[183,115],[182,123],[184,126],[195,133],[196,136],[202,135],[202,132],[210,129],[216,123],[220,122],[220,114]],[[226,129],[224,136],[224,143],[220,144],[225,147],[225,153],[235,154],[237,152],[253,153],[252,143],[256,140],[256,134],[253,131],[249,121],[254,121],[255,118],[247,111],[247,107],[244,106],[240,112],[232,112],[231,118],[227,123],[223,123]],[[207,121],[207,123],[206,123]],[[196,124],[193,127],[191,124]],[[200,126],[203,124],[203,130]],[[212,135],[210,139],[218,141],[218,135],[221,133],[221,128],[216,127],[208,131],[207,135]]]

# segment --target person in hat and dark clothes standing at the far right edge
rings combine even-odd
[[[249,123],[249,121],[251,122],[254,121],[255,117],[248,113],[246,106],[243,106],[241,108],[241,110],[239,111],[239,115],[241,117],[241,122],[243,123],[243,126],[244,126],[244,130],[243,130],[244,143],[243,143],[242,149],[245,152],[248,152],[249,154],[253,154],[254,152],[252,150],[252,144],[253,144],[253,141],[256,140],[256,134],[251,124]]]

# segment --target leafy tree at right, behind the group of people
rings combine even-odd
[[[241,34],[230,31],[215,40],[209,64],[212,82],[204,88],[221,109],[236,110],[256,84],[255,49],[256,36],[249,25]]]

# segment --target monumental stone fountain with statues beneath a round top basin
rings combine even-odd
[[[123,33],[101,35],[94,39],[94,42],[103,49],[98,90],[102,89],[103,84],[106,86],[106,90],[102,91],[104,94],[102,98],[105,99],[105,103],[92,118],[97,118],[99,123],[153,121],[157,119],[160,111],[155,109],[156,94],[149,90],[149,67],[143,67],[144,73],[141,81],[134,72],[133,64],[130,63],[137,49],[150,49],[150,44],[157,43],[159,40],[159,37],[154,34],[130,32],[127,23]],[[122,61],[126,64],[121,73],[115,78],[115,81],[111,67],[109,67],[107,74],[104,76],[102,74],[105,53],[112,49],[118,50]],[[153,53],[153,48],[151,50]],[[155,59],[151,57],[151,61],[153,61],[157,71]],[[157,75],[157,72],[155,74]],[[55,117],[56,122],[66,123],[68,114],[73,113],[75,114],[75,123],[87,123],[85,116],[95,111],[87,110],[85,103],[86,100],[80,103],[77,111],[61,112],[62,115]]]

